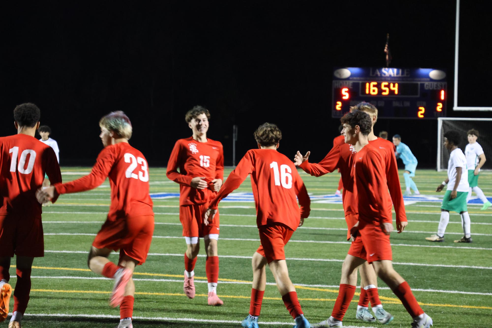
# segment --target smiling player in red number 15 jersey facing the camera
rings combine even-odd
[[[193,135],[180,139],[174,145],[167,163],[167,178],[180,184],[180,221],[186,241],[184,253],[184,294],[195,297],[193,282],[196,259],[203,238],[207,260],[205,270],[209,287],[209,305],[222,305],[217,296],[219,235],[218,214],[213,224],[203,224],[202,213],[215,197],[224,179],[224,151],[222,144],[207,138],[210,112],[195,106],[185,115]],[[178,171],[179,169],[179,171]]]

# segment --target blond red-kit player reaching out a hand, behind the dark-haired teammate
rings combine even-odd
[[[401,194],[400,179],[398,177],[398,167],[396,163],[396,157],[394,152],[393,143],[381,138],[377,138],[373,132],[374,123],[377,121],[377,109],[369,103],[362,102],[357,106],[351,108],[351,110],[361,110],[369,114],[371,118],[371,130],[368,138],[369,143],[377,150],[380,151],[385,161],[385,173],[388,177],[387,185],[390,190],[391,198],[395,206],[397,213],[397,228],[399,233],[404,230],[407,225],[407,219],[405,214],[405,207],[403,203],[403,196]],[[309,163],[307,161],[309,151],[303,157],[300,152],[295,156],[296,165],[300,166],[304,171],[312,176],[322,176],[326,173],[333,172],[336,168],[339,168],[343,179],[343,209],[345,212],[345,220],[347,222],[347,228],[350,230],[358,221],[357,217],[357,189],[354,186],[354,180],[351,176],[351,168],[353,166],[352,154],[354,153],[352,146],[348,144],[340,145],[339,147],[330,150],[328,155],[319,162]],[[347,239],[350,238],[349,232],[347,232]],[[365,249],[362,245],[360,238],[355,238],[350,245],[350,249],[345,258],[345,262],[342,265],[342,271],[345,267],[348,267],[352,261],[355,261],[357,257],[365,257]],[[356,318],[363,321],[374,321],[374,317],[370,314],[369,300],[372,306],[374,316],[380,323],[388,323],[393,320],[393,316],[386,312],[379,299],[377,292],[377,278],[374,269],[365,263],[359,268],[361,274],[361,294],[359,297],[359,304],[357,305]],[[355,283],[357,282],[357,273],[355,273]],[[339,299],[335,304],[333,313],[338,320],[342,320],[346,310],[350,304],[350,301],[354,297],[355,283],[353,285],[348,284],[348,281],[342,278],[339,287]]]

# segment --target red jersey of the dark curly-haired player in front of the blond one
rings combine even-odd
[[[357,186],[359,221],[369,224],[392,223],[383,156],[370,144],[353,156],[352,172]]]

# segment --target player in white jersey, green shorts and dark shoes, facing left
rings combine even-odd
[[[448,190],[444,194],[441,204],[441,220],[437,228],[437,234],[427,237],[429,241],[444,241],[444,232],[449,223],[449,211],[455,211],[461,215],[464,237],[455,242],[472,242],[470,234],[470,215],[466,208],[466,197],[468,196],[468,171],[466,170],[466,158],[458,148],[461,141],[461,134],[458,131],[448,131],[444,133],[444,147],[449,150],[448,179],[444,180],[437,187],[436,191],[441,191],[448,185]]]

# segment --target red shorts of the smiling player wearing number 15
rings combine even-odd
[[[180,206],[180,221],[183,225],[183,237],[202,237],[216,234],[219,231],[219,215],[218,211],[214,216],[214,220],[208,225],[203,224],[203,214],[209,208],[208,203],[198,205],[182,205]]]

